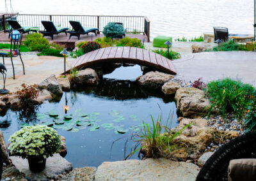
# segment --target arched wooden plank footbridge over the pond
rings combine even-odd
[[[166,57],[135,47],[100,48],[75,59],[71,67],[86,68],[94,64],[106,62],[140,64],[159,69],[165,73],[176,74],[172,61],[166,59]]]

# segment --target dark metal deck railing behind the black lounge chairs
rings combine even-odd
[[[140,33],[147,36],[150,41],[150,21],[147,17],[141,16],[98,16],[98,15],[28,15],[28,14],[3,14],[0,17],[0,31],[8,30],[8,20],[15,19],[22,26],[39,27],[44,30],[42,20],[51,20],[56,26],[68,27],[71,29],[69,20],[81,22],[84,27],[97,27],[103,31],[108,22],[122,22],[127,33]]]

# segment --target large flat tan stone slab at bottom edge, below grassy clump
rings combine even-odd
[[[198,166],[193,163],[164,158],[104,162],[97,168],[95,181],[195,180],[198,171]]]

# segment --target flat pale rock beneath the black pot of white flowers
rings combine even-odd
[[[27,159],[22,159],[18,156],[11,156],[10,159],[12,159],[12,163],[16,168],[26,175],[26,178],[32,180],[47,180],[72,170],[72,164],[61,157],[60,154],[54,154],[53,157],[47,158],[45,170],[39,173],[34,173],[29,170]]]

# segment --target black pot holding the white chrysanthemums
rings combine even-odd
[[[29,170],[40,172],[45,169],[46,159],[44,157],[31,156],[28,157]]]

